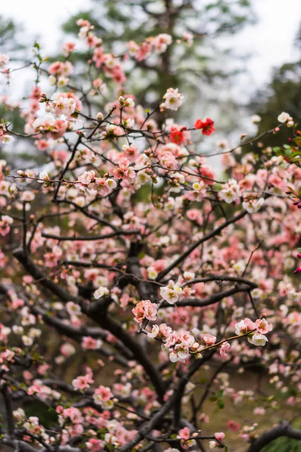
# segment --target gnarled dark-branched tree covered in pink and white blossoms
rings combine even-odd
[[[75,42],[52,64],[36,44],[24,133],[5,119],[0,127],[3,145],[31,140],[45,157],[40,168],[1,162],[2,443],[20,452],[226,448],[227,432],[203,406],[208,397],[218,409],[253,400],[225,373],[250,365],[271,374],[274,396],[227,429],[249,452],[277,436],[300,439],[286,420],[263,434],[257,422],[277,408],[277,390],[292,407],[301,390],[300,132],[279,112],[257,138],[202,155],[197,144],[214,122],[176,123],[185,93],[170,87],[149,111],[127,91],[123,61],[164,52],[172,38],[130,43],[116,56],[88,21],[78,26],[90,84],[77,85]],[[9,78],[9,55],[0,65]],[[44,77],[54,88],[41,90]],[[281,127],[291,139],[277,155],[241,157]],[[210,164],[217,153],[226,178]],[[80,354],[89,364],[69,381],[63,370]],[[48,416],[28,415],[29,403]]]

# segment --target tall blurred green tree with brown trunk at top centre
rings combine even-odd
[[[94,25],[105,51],[113,46],[116,54],[124,52],[125,44],[131,40],[139,44],[160,33],[173,38],[165,53],[138,62],[138,68],[133,70],[128,62],[127,72],[134,71],[131,80],[135,82],[125,86],[135,94],[137,103],[152,108],[167,88],[178,87],[186,98],[183,116],[213,115],[216,120],[221,119],[220,127],[233,128],[237,104],[229,90],[242,69],[242,58],[226,48],[221,38],[255,23],[251,0],[92,0],[92,6],[63,25],[69,37],[77,35],[76,20],[83,18]],[[183,42],[185,33],[192,35],[191,45],[177,43]],[[71,57],[83,80],[88,76],[80,65],[84,59],[86,53],[79,51]]]

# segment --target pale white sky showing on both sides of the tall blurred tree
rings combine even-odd
[[[235,35],[231,45],[240,54],[254,55],[247,67],[258,87],[268,82],[273,66],[297,57],[292,42],[301,22],[301,0],[253,0],[253,5],[258,24]],[[26,35],[33,39],[40,35],[44,50],[51,52],[60,37],[60,24],[88,8],[89,0],[9,0],[1,15],[23,23]]]

